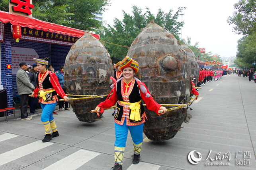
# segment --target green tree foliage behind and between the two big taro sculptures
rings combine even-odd
[[[178,10],[173,14],[173,10],[170,10],[168,13],[164,13],[161,9],[159,9],[157,15],[154,16],[150,12],[149,8],[146,8],[145,13],[143,13],[142,9],[138,8],[137,6],[133,6],[132,9],[132,15],[123,11],[122,21],[115,18],[113,27],[107,25],[107,27],[104,27],[96,32],[100,34],[101,40],[110,42],[112,44],[130,47],[133,40],[150,21],[154,21],[156,24],[164,27],[164,29],[171,32],[174,34],[174,36],[176,36],[176,38],[179,39],[178,32],[184,25],[184,22],[177,21],[181,10]],[[112,61],[116,63],[123,59],[123,57],[127,54],[128,48],[112,44],[104,43],[111,55]]]

